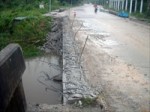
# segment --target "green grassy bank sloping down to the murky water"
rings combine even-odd
[[[25,57],[41,55],[38,49],[50,31],[51,18],[43,17],[47,9],[33,6],[17,7],[0,11],[0,50],[9,43],[19,43]]]

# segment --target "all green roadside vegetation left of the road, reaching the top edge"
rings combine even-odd
[[[77,4],[78,0],[73,0]],[[71,5],[68,0],[51,0],[51,10]],[[39,4],[44,8],[39,8]],[[51,30],[49,0],[0,0],[0,50],[9,43],[18,43],[25,57],[39,56],[40,46]]]

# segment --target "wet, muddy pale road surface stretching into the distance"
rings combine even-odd
[[[104,12],[92,5],[74,8],[73,29],[82,48],[87,79],[103,87],[103,99],[115,112],[150,111],[150,26]]]

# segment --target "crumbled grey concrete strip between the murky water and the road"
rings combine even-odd
[[[94,98],[97,94],[86,82],[85,74],[78,62],[81,51],[74,41],[68,18],[63,21],[63,103],[74,103],[81,98]],[[70,83],[71,82],[71,83]]]

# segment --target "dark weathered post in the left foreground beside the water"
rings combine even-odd
[[[25,62],[18,44],[0,52],[0,112],[26,112],[22,86]]]

